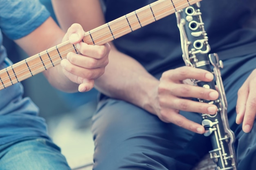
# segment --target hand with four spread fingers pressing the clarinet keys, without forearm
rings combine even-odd
[[[206,70],[193,67],[180,67],[168,70],[162,74],[158,87],[158,108],[155,109],[157,116],[163,122],[171,122],[195,133],[204,133],[204,126],[186,119],[180,115],[180,110],[215,114],[216,105],[194,101],[189,98],[200,98],[205,100],[218,99],[218,92],[213,89],[194,86],[185,83],[186,80],[195,79],[209,82],[213,80],[213,74]]]

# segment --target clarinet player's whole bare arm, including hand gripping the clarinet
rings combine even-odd
[[[81,24],[87,31],[105,23],[98,0],[52,0],[52,2],[63,29],[67,29],[72,22]],[[79,10],[74,12],[68,8],[74,6]],[[79,17],[81,15],[84,17]],[[97,17],[89,17],[92,15]],[[111,46],[106,71],[95,81],[99,91],[110,97],[131,102],[157,115],[164,122],[172,122],[191,131],[204,133],[202,125],[187,120],[178,111],[216,113],[216,106],[187,100],[186,97],[216,100],[218,92],[182,84],[182,80],[186,78],[211,81],[213,79],[211,73],[183,67],[165,72],[159,81],[135,59],[119,52],[113,44]],[[213,95],[210,94],[211,92]]]

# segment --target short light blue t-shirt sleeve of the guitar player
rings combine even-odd
[[[38,0],[0,0],[0,28],[10,39],[28,35],[49,16]]]

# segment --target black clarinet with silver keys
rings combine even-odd
[[[218,100],[198,99],[199,102],[213,104],[218,108],[215,115],[202,114],[202,125],[205,128],[204,136],[209,136],[211,139],[213,150],[209,153],[213,162],[216,163],[216,170],[236,170],[235,135],[229,128],[227,99],[220,74],[223,63],[219,60],[218,54],[208,54],[210,46],[199,8],[200,3],[197,2],[175,13],[180,31],[182,58],[186,66],[201,68],[214,74],[215,78],[211,82],[191,81],[193,85],[207,89],[218,87]]]

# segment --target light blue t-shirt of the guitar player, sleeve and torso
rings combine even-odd
[[[19,39],[34,31],[49,15],[38,0],[0,0],[1,70],[12,64],[2,46],[2,33],[10,39]],[[21,83],[0,90],[0,144],[23,137],[48,138],[45,120],[38,116],[38,107],[22,95]]]

